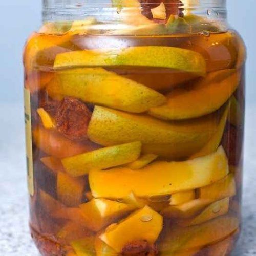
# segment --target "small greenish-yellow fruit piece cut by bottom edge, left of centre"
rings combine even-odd
[[[95,256],[95,237],[88,236],[72,241],[70,244],[77,256]]]

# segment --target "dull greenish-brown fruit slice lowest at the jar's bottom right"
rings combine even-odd
[[[164,255],[175,255],[179,250],[204,247],[208,244],[225,239],[239,228],[236,217],[225,215],[203,224],[172,228],[159,246]]]

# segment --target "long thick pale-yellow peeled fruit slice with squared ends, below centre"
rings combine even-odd
[[[89,183],[95,198],[123,198],[133,191],[138,197],[170,195],[211,184],[228,174],[222,147],[215,153],[185,162],[155,162],[140,170],[125,167],[91,170]],[[108,186],[105,182],[108,181]],[[143,186],[141,186],[143,182]]]

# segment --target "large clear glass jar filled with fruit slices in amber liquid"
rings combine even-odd
[[[228,255],[245,46],[224,0],[45,0],[24,52],[42,255]]]

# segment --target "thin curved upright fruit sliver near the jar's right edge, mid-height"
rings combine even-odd
[[[204,145],[203,148],[201,148],[201,150],[199,152],[190,156],[190,159],[205,156],[205,155],[208,155],[208,154],[216,151],[216,149],[220,145],[221,139],[223,137],[229,110],[230,110],[230,104],[228,103],[228,105],[226,106],[226,108],[222,114],[222,117],[221,117],[221,120],[218,125],[218,129],[217,129],[216,133],[210,138],[210,140],[206,143],[206,145]]]

